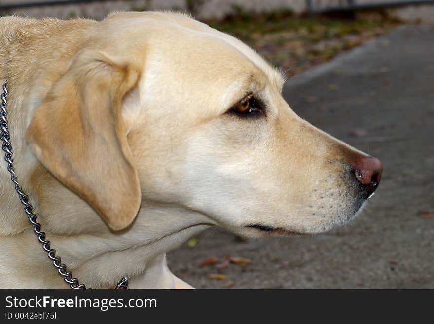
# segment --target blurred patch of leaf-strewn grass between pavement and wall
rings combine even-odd
[[[398,21],[371,12],[354,19],[298,17],[290,11],[245,14],[223,21],[206,21],[211,27],[240,38],[266,60],[292,77],[313,65],[380,36]]]

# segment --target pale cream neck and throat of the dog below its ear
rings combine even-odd
[[[16,109],[13,98],[8,108]],[[112,232],[36,160],[24,141],[26,123],[16,116],[11,114],[9,125],[18,180],[47,239],[73,275],[88,288],[113,288],[125,275],[130,288],[173,288],[177,278],[167,268],[165,253],[211,226],[210,220],[187,208],[144,200],[133,224]],[[0,183],[0,288],[67,288],[32,231],[5,163],[0,165]]]

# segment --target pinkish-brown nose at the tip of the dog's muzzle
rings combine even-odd
[[[383,165],[380,160],[371,156],[361,156],[354,164],[354,176],[370,196],[380,183]]]

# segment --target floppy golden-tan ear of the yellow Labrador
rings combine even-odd
[[[85,50],[36,108],[26,133],[45,168],[113,230],[131,224],[141,202],[121,111],[139,77],[131,64]]]

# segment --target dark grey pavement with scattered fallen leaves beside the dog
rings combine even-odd
[[[402,26],[290,80],[300,116],[383,162],[362,216],[332,232],[240,242],[220,229],[168,253],[195,288],[434,288],[434,26]],[[423,211],[432,213],[423,213]],[[200,267],[211,256],[249,265]],[[211,274],[226,279],[210,279]]]

